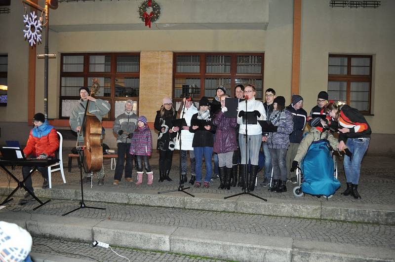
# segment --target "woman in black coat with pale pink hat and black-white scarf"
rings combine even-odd
[[[164,180],[173,181],[169,177],[171,169],[171,160],[173,159],[174,143],[173,139],[176,132],[173,132],[173,120],[176,119],[176,112],[173,108],[173,101],[169,97],[162,100],[163,104],[157,111],[154,127],[158,130],[159,150],[159,182]]]

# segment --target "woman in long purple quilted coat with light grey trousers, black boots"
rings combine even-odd
[[[228,109],[225,107],[225,99],[228,95],[222,95],[220,98],[221,110],[218,111],[214,118],[213,124],[217,126],[217,132],[215,133],[214,149],[213,151],[218,154],[218,165],[219,165],[219,181],[220,186],[218,188],[231,189],[231,176],[233,167],[233,154],[237,150],[236,142],[236,131],[237,119],[231,117],[225,117],[225,112]],[[237,181],[236,177],[233,178]]]

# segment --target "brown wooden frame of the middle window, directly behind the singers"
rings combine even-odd
[[[177,56],[200,56],[199,73],[177,73]],[[231,57],[230,73],[206,73],[206,56],[224,55]],[[262,66],[260,74],[237,74],[237,56],[240,55],[256,55],[262,57]],[[264,94],[264,65],[265,65],[265,53],[264,52],[251,52],[251,53],[239,53],[239,52],[174,52],[173,53],[173,88],[172,96],[173,100],[181,101],[181,98],[175,97],[175,79],[176,78],[200,78],[200,98],[204,96],[205,91],[205,78],[230,78],[231,89],[230,93],[227,90],[227,94],[231,97],[235,96],[236,79],[262,79],[262,96]],[[212,97],[211,97],[212,98]],[[263,99],[263,97],[261,98]]]

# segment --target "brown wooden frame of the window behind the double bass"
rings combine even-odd
[[[110,72],[90,72],[89,71],[89,56],[111,56],[111,70]],[[63,57],[64,56],[83,56],[83,72],[63,72]],[[117,56],[138,56],[140,61],[140,53],[138,52],[103,52],[103,53],[61,53],[60,56],[60,77],[59,77],[59,118],[69,119],[70,117],[62,116],[62,100],[79,100],[79,96],[62,96],[62,77],[83,77],[83,86],[90,87],[92,84],[88,83],[89,77],[109,77],[110,78],[110,96],[97,96],[97,98],[107,100],[110,103],[111,110],[109,117],[103,120],[115,120],[115,102],[133,100],[137,101],[137,113],[139,110],[139,97],[116,97],[115,96],[115,79],[119,77],[135,77],[140,79],[140,63],[138,72],[117,72]],[[140,88],[140,87],[139,87]]]

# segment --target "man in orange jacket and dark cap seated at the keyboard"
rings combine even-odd
[[[59,148],[59,139],[55,128],[45,122],[45,116],[42,113],[36,113],[34,115],[33,123],[34,128],[30,130],[29,139],[23,153],[26,157],[35,157],[38,159],[55,157],[55,150]],[[30,174],[30,170],[32,168],[33,167],[30,166],[22,167],[22,175],[24,179]],[[44,178],[42,188],[48,188],[48,169],[46,167],[39,167],[38,170]],[[34,192],[32,178],[30,176],[25,181],[25,186]],[[19,204],[24,205],[32,199],[34,199],[33,196],[26,193],[25,197],[19,201]]]

